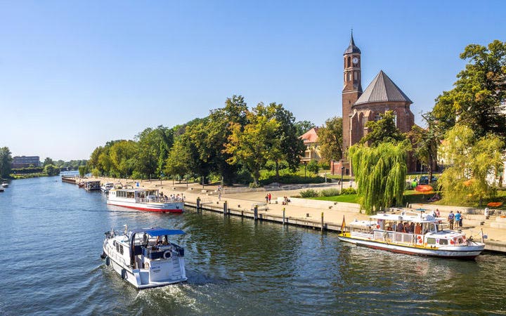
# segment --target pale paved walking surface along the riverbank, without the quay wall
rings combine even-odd
[[[94,180],[94,179],[90,179]],[[129,183],[131,185],[135,185],[134,180],[125,180],[125,179],[112,179],[112,178],[96,178],[96,180],[101,180],[102,182],[120,182],[122,184]],[[275,216],[283,216],[283,209],[285,209],[285,216],[290,218],[298,218],[301,220],[314,220],[320,221],[321,214],[323,213],[323,218],[325,223],[329,223],[332,225],[341,225],[343,216],[346,218],[346,223],[350,223],[352,220],[365,220],[368,218],[364,213],[358,213],[358,211],[353,211],[349,209],[329,209],[329,206],[319,206],[319,205],[311,205],[306,206],[295,206],[290,203],[287,205],[276,204],[275,200],[278,197],[290,197],[293,195],[299,195],[299,191],[306,190],[307,187],[301,186],[285,186],[292,190],[279,190],[279,188],[272,188],[271,190],[267,189],[257,189],[250,190],[247,187],[225,187],[221,191],[221,196],[219,196],[218,186],[217,185],[205,185],[202,188],[202,185],[197,184],[188,184],[186,183],[172,183],[172,180],[142,180],[138,181],[139,187],[143,188],[153,188],[160,190],[164,193],[164,195],[171,194],[180,194],[186,197],[186,201],[195,203],[197,197],[200,197],[202,202],[209,204],[221,204],[227,201],[228,206],[232,209],[244,209],[250,210],[252,205],[259,204],[263,205],[266,202],[266,194],[268,192],[271,193],[271,204],[267,205],[266,211],[261,211],[260,213],[268,213],[268,215]],[[314,185],[316,186],[316,190],[322,190],[325,187],[338,187],[335,183],[328,183],[326,185]],[[441,217],[446,218],[449,213],[448,207],[442,207],[432,204],[413,204],[411,205],[412,209],[415,210],[417,208],[427,209],[427,212],[432,212],[433,209],[439,208],[441,211]],[[260,208],[263,209],[262,207]],[[454,208],[457,209],[457,208]],[[506,229],[502,228],[491,228],[491,223],[495,220],[494,216],[486,219],[484,215],[481,214],[467,214],[464,213],[463,227],[462,230],[466,232],[468,237],[473,236],[475,239],[481,239],[479,235],[481,229],[484,231],[484,235],[488,235],[488,239],[486,242],[494,242],[503,244],[506,249]]]

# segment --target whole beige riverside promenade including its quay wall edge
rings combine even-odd
[[[172,180],[131,180],[116,178],[89,178],[86,180],[100,180],[102,183],[122,183],[145,189],[157,189],[164,195],[183,195],[187,206],[197,206],[200,199],[202,209],[228,215],[254,218],[254,207],[257,206],[257,219],[268,220],[285,225],[299,225],[315,230],[328,230],[339,232],[342,227],[343,217],[346,224],[353,220],[366,220],[367,215],[360,212],[360,206],[354,203],[328,202],[313,199],[298,199],[290,196],[299,195],[301,190],[313,188],[323,190],[325,188],[340,188],[336,183],[321,183],[318,185],[282,185],[276,187],[262,187],[250,189],[249,187],[224,187],[219,190],[218,185],[198,185],[196,183],[177,183]],[[345,187],[349,187],[345,183]],[[266,195],[271,193],[271,203],[266,203]],[[283,197],[288,197],[290,202],[283,205]],[[483,209],[469,209],[460,206],[439,206],[433,204],[412,204],[405,210],[415,211],[425,209],[427,213],[439,209],[441,218],[446,218],[450,211],[462,211],[464,215],[462,231],[467,237],[481,239],[481,230],[488,238],[485,239],[488,251],[498,251],[506,254],[506,218],[505,212],[492,213],[488,218]],[[396,209],[396,213],[401,209]]]

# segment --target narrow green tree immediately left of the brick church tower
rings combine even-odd
[[[342,159],[342,117],[332,117],[318,129],[320,156],[323,161]]]

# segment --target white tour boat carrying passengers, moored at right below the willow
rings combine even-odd
[[[402,254],[436,256],[443,258],[472,259],[484,250],[484,235],[481,242],[466,238],[460,230],[443,229],[442,218],[406,211],[401,214],[379,213],[370,220],[355,220],[346,232],[344,223],[339,240],[374,249],[394,251]],[[406,223],[406,224],[404,224]]]

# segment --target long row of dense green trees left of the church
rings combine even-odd
[[[168,128],[157,126],[134,140],[111,140],[91,153],[87,169],[95,176],[117,178],[217,177],[225,184],[259,184],[260,171],[299,167],[304,143],[299,136],[313,124],[295,121],[283,104],[259,103],[251,109],[242,96],[202,119]]]

